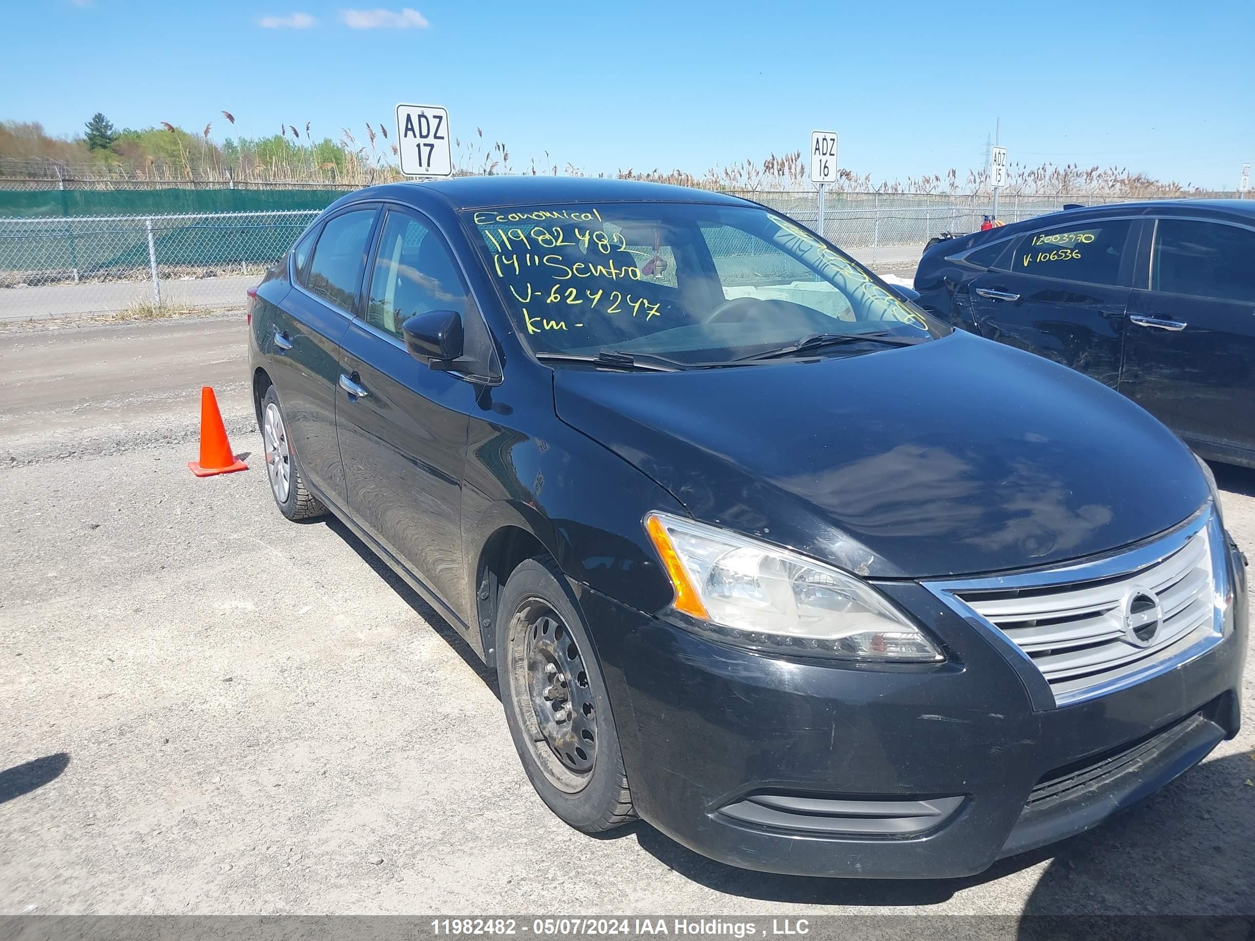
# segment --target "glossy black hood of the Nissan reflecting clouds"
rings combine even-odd
[[[563,368],[553,384],[563,422],[695,518],[861,575],[1088,556],[1167,529],[1209,496],[1188,449],[1128,399],[961,331],[735,369]]]

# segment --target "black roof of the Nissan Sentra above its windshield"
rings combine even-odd
[[[639,179],[602,177],[453,177],[430,182],[385,183],[358,191],[356,198],[385,198],[398,202],[425,202],[439,197],[453,210],[482,210],[502,206],[572,202],[698,202],[722,206],[747,206],[727,193],[693,189]]]

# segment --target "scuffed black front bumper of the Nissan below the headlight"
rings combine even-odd
[[[1249,626],[1242,562],[1226,556],[1235,597],[1219,645],[1052,709],[1034,709],[1003,654],[915,583],[878,587],[945,642],[940,666],[761,656],[587,588],[581,605],[648,822],[752,869],[958,877],[1097,826],[1237,733]],[[868,826],[877,814],[889,822]]]

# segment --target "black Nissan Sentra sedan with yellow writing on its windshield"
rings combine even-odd
[[[762,206],[373,187],[250,320],[279,508],[334,513],[497,670],[572,827],[963,876],[1237,733],[1246,575],[1206,467]]]

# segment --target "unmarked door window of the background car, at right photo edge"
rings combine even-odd
[[[1255,232],[1214,222],[1160,220],[1151,290],[1255,304]]]

